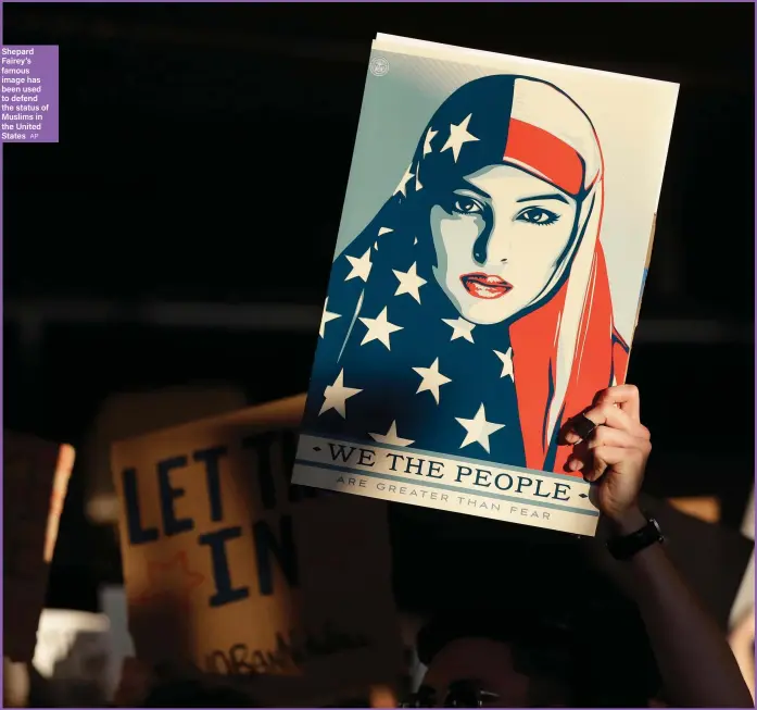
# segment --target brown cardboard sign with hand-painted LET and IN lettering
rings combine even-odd
[[[290,485],[303,404],[297,397],[114,445],[141,661],[295,675],[304,703],[394,682],[386,506]]]

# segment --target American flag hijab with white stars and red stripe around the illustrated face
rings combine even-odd
[[[575,221],[539,297],[481,324],[434,275],[445,257],[430,215],[496,165],[569,198]],[[600,242],[603,178],[594,127],[557,87],[495,75],[452,94],[394,194],[333,263],[302,431],[566,473],[560,426],[623,382],[628,362]]]

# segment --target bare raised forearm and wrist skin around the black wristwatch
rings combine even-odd
[[[613,528],[627,535],[645,523],[634,510]],[[677,707],[754,708],[724,635],[664,546],[653,545],[619,564],[644,621],[668,700]]]

